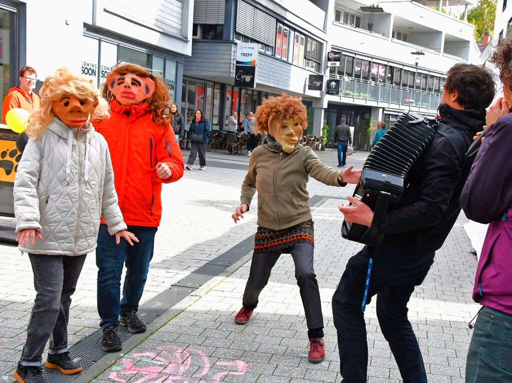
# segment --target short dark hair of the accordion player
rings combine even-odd
[[[457,92],[464,109],[485,109],[496,93],[493,73],[485,66],[458,63],[448,69],[444,91]]]

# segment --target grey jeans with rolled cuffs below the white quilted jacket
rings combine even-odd
[[[23,366],[39,366],[45,345],[50,339],[49,353],[68,350],[68,321],[71,296],[86,254],[78,256],[29,254],[34,272],[36,297],[23,346]]]

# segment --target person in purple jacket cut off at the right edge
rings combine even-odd
[[[467,218],[489,224],[473,299],[482,305],[467,352],[466,383],[512,382],[512,36],[491,58],[503,98],[487,111],[485,140],[462,190]],[[471,328],[471,325],[470,325]]]

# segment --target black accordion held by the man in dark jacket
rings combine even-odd
[[[377,246],[382,240],[378,227],[390,203],[397,202],[414,163],[431,144],[437,123],[412,112],[400,115],[362,165],[354,198],[374,212],[370,227],[343,222],[342,236],[350,241]]]

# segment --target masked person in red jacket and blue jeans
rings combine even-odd
[[[162,183],[183,176],[183,157],[170,126],[169,94],[163,80],[132,64],[115,68],[106,78],[103,96],[110,102],[110,118],[94,124],[109,145],[119,207],[139,243],[116,245],[106,225],[100,225],[98,313],[103,328],[102,349],[120,351],[119,325],[131,332],[146,326],[137,315],[160,224]],[[126,265],[123,299],[121,273]]]

